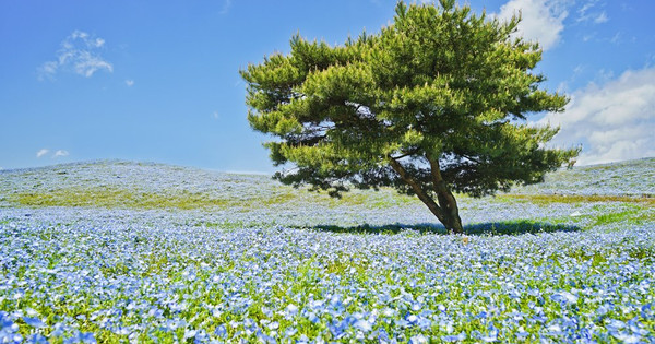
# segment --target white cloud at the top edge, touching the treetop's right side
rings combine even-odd
[[[509,21],[521,13],[516,35],[536,40],[544,50],[548,50],[561,38],[563,21],[569,14],[565,4],[567,1],[562,0],[510,0],[500,8],[497,16]]]

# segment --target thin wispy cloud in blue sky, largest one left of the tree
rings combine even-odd
[[[75,31],[61,43],[57,60],[47,61],[38,68],[38,78],[53,79],[59,71],[69,71],[91,78],[98,70],[114,71],[114,66],[100,56],[105,39]]]

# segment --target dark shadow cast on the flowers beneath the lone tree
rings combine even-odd
[[[332,233],[349,233],[349,234],[386,234],[394,235],[401,232],[414,230],[420,234],[449,234],[445,227],[441,224],[390,224],[390,225],[369,225],[359,226],[336,226],[336,225],[318,225],[309,227],[309,229]],[[568,224],[550,224],[544,222],[535,222],[529,220],[505,221],[505,222],[489,222],[480,224],[472,224],[464,226],[466,235],[475,236],[493,236],[493,235],[524,235],[538,233],[553,232],[579,232],[582,230],[579,226]]]

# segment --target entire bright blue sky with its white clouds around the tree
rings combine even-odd
[[[462,2],[462,1],[460,1]],[[545,87],[572,97],[534,122],[580,164],[655,156],[655,1],[471,0],[545,49]],[[0,167],[120,158],[272,173],[239,69],[291,35],[343,44],[395,1],[0,0]]]

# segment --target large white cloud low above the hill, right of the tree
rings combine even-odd
[[[627,71],[572,94],[563,114],[539,123],[560,126],[552,143],[583,144],[581,165],[655,156],[655,68]]]

